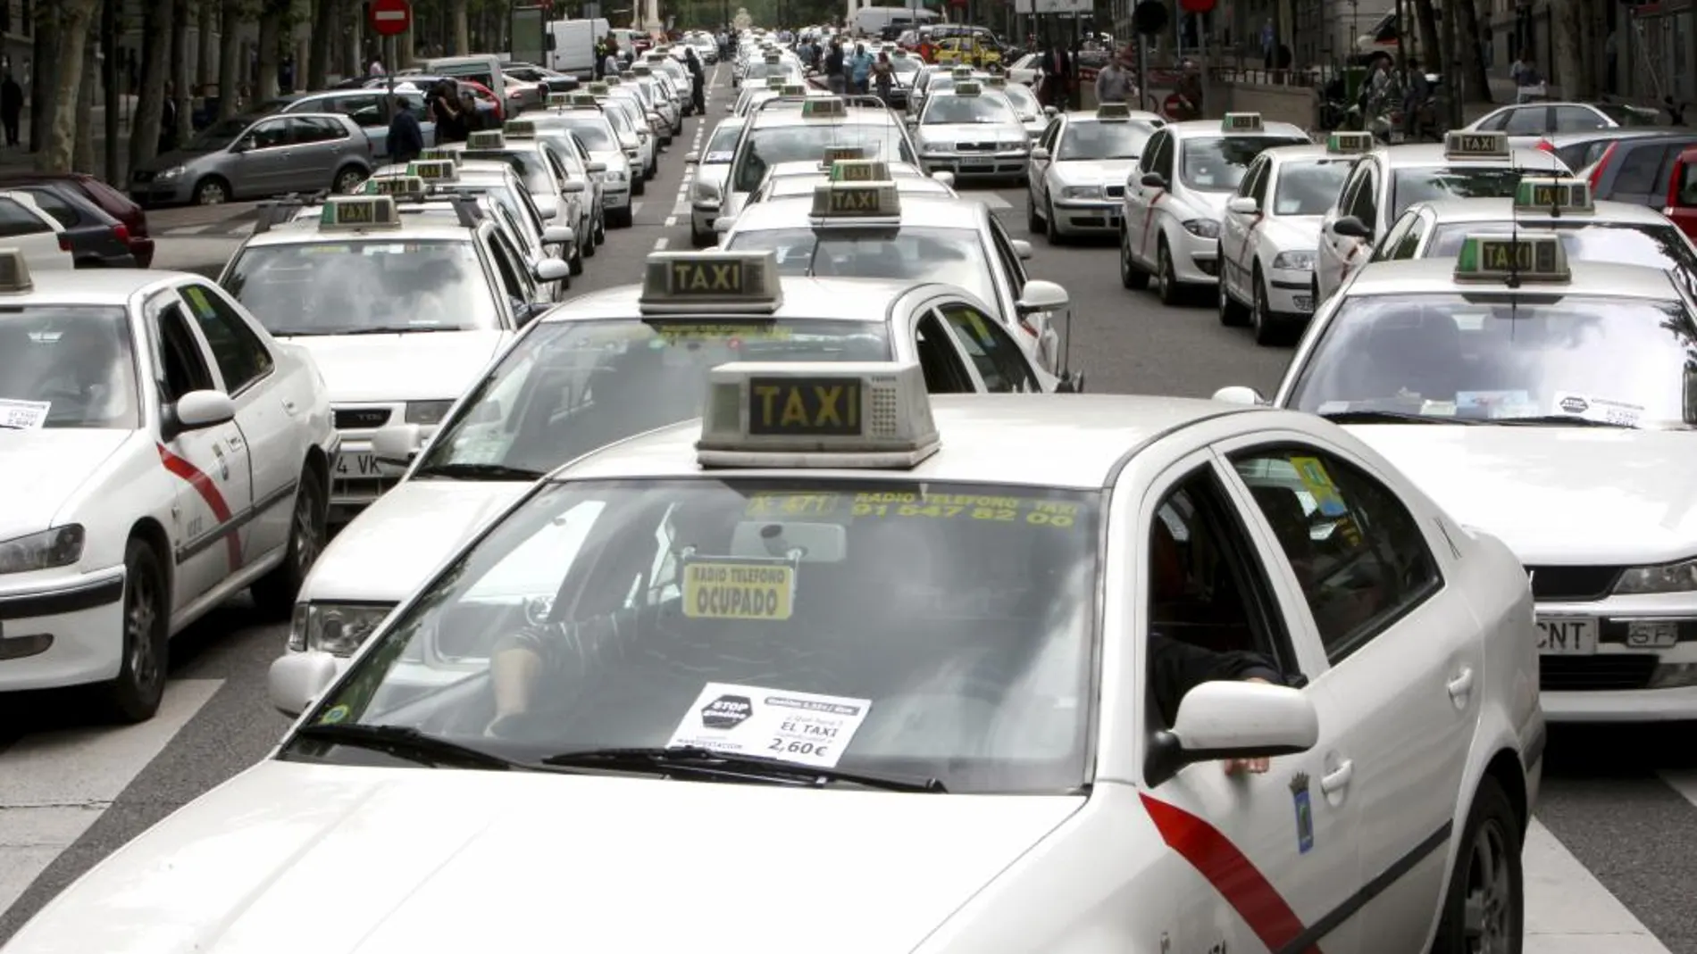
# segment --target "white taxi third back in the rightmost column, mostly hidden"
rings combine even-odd
[[[1449,130],[1442,146],[1388,146],[1363,154],[1344,180],[1337,203],[1320,220],[1320,254],[1313,263],[1317,298],[1329,298],[1353,268],[1366,264],[1375,239],[1415,202],[1509,198],[1524,175],[1566,176],[1571,171],[1543,149],[1510,149],[1502,132]]]

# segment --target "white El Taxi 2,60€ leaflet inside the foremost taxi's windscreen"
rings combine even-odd
[[[708,683],[667,747],[699,746],[832,768],[843,757],[871,708],[872,700],[864,698]]]

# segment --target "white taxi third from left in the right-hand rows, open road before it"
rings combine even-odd
[[[1183,303],[1193,288],[1217,286],[1220,219],[1249,163],[1264,149],[1307,142],[1302,129],[1266,124],[1254,112],[1157,129],[1125,183],[1120,283],[1144,288],[1154,275],[1164,305]]]

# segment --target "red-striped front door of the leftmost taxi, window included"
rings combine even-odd
[[[222,390],[210,351],[175,288],[143,305],[153,347],[161,422],[188,391]],[[248,564],[243,524],[253,503],[248,446],[239,420],[154,435],[160,461],[178,478],[171,505],[171,607],[180,610]]]

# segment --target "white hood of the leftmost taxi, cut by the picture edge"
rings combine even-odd
[[[95,427],[0,429],[0,541],[46,530],[85,481],[134,430]]]

